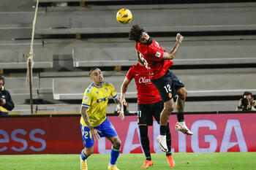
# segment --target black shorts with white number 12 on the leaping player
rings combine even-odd
[[[176,96],[178,89],[185,87],[181,80],[178,80],[178,77],[176,77],[170,69],[167,70],[165,75],[159,79],[151,80],[151,82],[158,89],[159,95],[164,102],[170,101],[171,98]]]

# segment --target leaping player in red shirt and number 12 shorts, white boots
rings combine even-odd
[[[146,31],[138,25],[132,26],[129,31],[129,39],[135,40],[137,56],[150,72],[151,82],[158,89],[164,101],[164,109],[160,117],[160,135],[157,141],[159,142],[160,149],[163,152],[167,152],[166,128],[170,114],[174,110],[173,97],[177,94],[176,109],[178,112],[178,123],[176,123],[176,131],[181,131],[187,135],[193,134],[184,122],[184,103],[187,97],[187,90],[184,88],[185,85],[181,80],[178,80],[178,77],[169,69],[173,65],[171,60],[176,56],[183,36],[177,34],[176,44],[170,53],[166,53],[165,49],[154,39],[151,39]]]

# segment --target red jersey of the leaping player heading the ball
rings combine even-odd
[[[173,61],[162,60],[165,49],[152,39],[151,45],[141,45],[136,42],[135,46],[140,60],[150,72],[151,79],[159,79],[167,72],[167,69],[173,65]]]

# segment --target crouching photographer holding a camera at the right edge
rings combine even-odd
[[[249,91],[244,92],[243,98],[240,98],[239,105],[236,111],[255,111],[256,101],[254,100],[252,93]]]

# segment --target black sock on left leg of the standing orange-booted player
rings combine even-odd
[[[139,125],[139,128],[140,128],[140,143],[145,153],[146,160],[151,161],[149,139],[148,139],[148,126]]]

